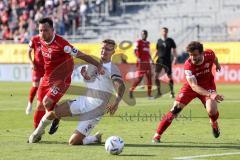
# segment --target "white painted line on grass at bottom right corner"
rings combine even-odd
[[[197,159],[197,158],[220,157],[220,156],[229,156],[229,155],[240,155],[240,152],[230,152],[230,153],[220,153],[220,154],[206,154],[206,155],[197,155],[197,156],[188,156],[188,157],[175,157],[173,159],[191,160],[191,159]]]

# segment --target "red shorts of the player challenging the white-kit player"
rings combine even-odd
[[[61,99],[61,97],[66,93],[69,86],[70,83],[58,83],[56,85],[49,85],[49,83],[46,83],[46,81],[41,81],[38,88],[38,100],[42,102],[45,96],[52,99],[53,105],[49,109],[52,110],[57,102]]]

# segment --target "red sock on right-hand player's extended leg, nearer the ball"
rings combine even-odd
[[[158,125],[157,133],[162,135],[175,117],[176,115],[172,114],[172,112],[168,112],[165,116],[163,116],[162,121]]]

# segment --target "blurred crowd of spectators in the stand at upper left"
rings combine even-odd
[[[101,16],[106,1],[114,9],[116,0],[0,0],[0,39],[27,43],[37,33],[36,22],[45,16],[52,17],[60,35],[71,35],[86,25],[87,13]],[[90,18],[90,17],[89,17]],[[83,22],[84,21],[84,22]]]

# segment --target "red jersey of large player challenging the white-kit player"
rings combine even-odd
[[[40,42],[45,63],[43,81],[53,83],[64,81],[69,84],[74,66],[70,52],[77,52],[77,50],[57,34],[54,35],[52,41],[49,43],[43,40]]]

